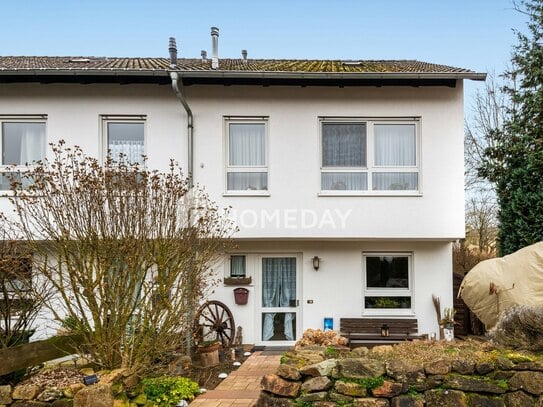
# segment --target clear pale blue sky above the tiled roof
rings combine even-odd
[[[0,0],[0,55],[277,59],[417,59],[477,72],[505,69],[512,0]],[[466,84],[466,104],[480,83]]]

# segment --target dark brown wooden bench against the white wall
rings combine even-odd
[[[358,343],[394,343],[423,339],[426,335],[418,334],[416,318],[340,318],[340,334]],[[388,336],[381,336],[381,327],[388,326]]]

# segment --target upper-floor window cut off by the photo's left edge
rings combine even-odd
[[[10,189],[11,181],[22,180],[21,172],[45,158],[46,137],[43,119],[3,119],[0,117],[0,138],[2,141],[2,167],[0,189]]]

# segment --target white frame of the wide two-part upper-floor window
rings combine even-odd
[[[421,171],[421,147],[420,147],[420,132],[421,132],[420,117],[391,117],[391,118],[365,118],[365,117],[319,117],[319,196],[421,196],[422,195],[422,171]],[[323,159],[323,124],[365,124],[366,125],[366,166],[365,167],[324,167]],[[377,166],[375,162],[375,146],[374,146],[374,126],[382,124],[407,124],[415,126],[415,154],[416,163],[414,166]],[[367,176],[366,190],[324,190],[322,189],[322,174],[329,172],[338,173],[364,173]],[[382,172],[400,172],[400,173],[417,173],[417,189],[416,190],[373,190],[373,174]]]

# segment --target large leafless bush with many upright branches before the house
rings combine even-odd
[[[234,226],[173,162],[161,173],[52,147],[11,199],[35,269],[58,293],[51,312],[102,366],[153,369],[187,345]]]

